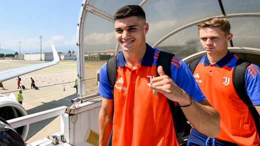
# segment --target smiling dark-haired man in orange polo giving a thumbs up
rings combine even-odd
[[[160,50],[146,44],[149,24],[143,9],[124,6],[115,12],[114,19],[122,52],[117,56],[113,93],[106,64],[100,70],[98,91],[103,98],[98,117],[99,146],[107,144],[112,117],[112,146],[178,146],[168,99],[179,103],[194,127],[216,137],[220,116],[201,93],[186,64],[174,56],[172,78],[161,66],[157,70]]]

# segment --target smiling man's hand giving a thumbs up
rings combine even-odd
[[[164,94],[165,97],[173,101],[182,100],[182,97],[186,97],[187,94],[179,86],[177,86],[174,81],[163,72],[162,66],[158,67],[158,73],[160,76],[157,76],[152,79],[152,84],[148,85],[153,89],[153,94],[158,95],[158,92]]]

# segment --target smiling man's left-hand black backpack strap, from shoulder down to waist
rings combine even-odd
[[[109,85],[111,87],[112,94],[114,93],[114,86],[116,83],[116,73],[117,73],[117,56],[114,56],[108,59],[106,63],[106,74],[107,74]],[[111,123],[113,123],[113,118],[111,120]],[[112,137],[113,137],[113,129],[110,132],[106,146],[112,146]]]

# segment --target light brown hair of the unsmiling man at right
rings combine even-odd
[[[218,27],[225,33],[225,35],[230,33],[231,28],[229,21],[226,18],[210,18],[197,26],[198,31],[202,28]]]

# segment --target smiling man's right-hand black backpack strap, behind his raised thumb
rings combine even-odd
[[[171,60],[174,54],[160,51],[158,59],[157,59],[157,68],[162,66],[163,72],[171,78]],[[157,76],[160,76],[157,72]],[[171,110],[171,116],[173,119],[174,131],[177,137],[178,142],[181,140],[186,125],[187,119],[180,107],[177,107],[174,101],[168,99],[169,107]]]

